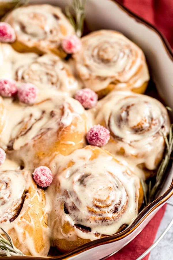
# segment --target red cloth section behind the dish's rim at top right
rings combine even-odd
[[[173,48],[173,0],[117,0],[117,2],[155,25]]]

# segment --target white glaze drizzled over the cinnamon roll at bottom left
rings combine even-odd
[[[5,185],[5,183],[7,185]],[[19,215],[12,222],[9,222],[10,218],[13,216],[12,211],[21,203],[23,192],[27,192],[30,187],[34,189],[32,198],[29,193],[25,194],[24,204],[22,205]],[[7,233],[12,229],[15,230],[13,235],[14,237],[17,236],[18,241],[22,245],[22,251],[28,250],[31,255],[35,256],[47,256],[50,248],[49,229],[48,227],[43,227],[41,224],[45,218],[45,209],[43,209],[42,215],[38,215],[37,212],[34,212],[34,214],[37,214],[37,220],[39,219],[40,226],[42,226],[42,238],[45,242],[45,246],[40,248],[39,252],[35,249],[36,245],[34,244],[35,242],[32,233],[29,234],[27,232],[28,228],[30,228],[30,230],[35,229],[35,220],[33,221],[33,216],[31,216],[29,211],[33,208],[31,199],[34,199],[35,196],[37,197],[37,201],[41,203],[42,196],[39,193],[39,188],[36,188],[29,172],[22,170],[0,171],[0,227]],[[5,202],[5,204],[3,204],[3,202]],[[26,212],[29,214],[29,221],[25,219]],[[2,233],[1,230],[0,233]]]

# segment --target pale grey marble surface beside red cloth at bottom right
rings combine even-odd
[[[173,196],[170,198],[173,202]],[[163,233],[173,218],[173,206],[167,204],[164,217],[161,221],[155,240]],[[172,260],[173,259],[173,226],[162,238],[159,244],[151,251],[148,260]]]

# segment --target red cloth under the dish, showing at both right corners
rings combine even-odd
[[[166,36],[173,48],[173,0],[117,0],[134,13],[152,23]],[[164,205],[148,223],[144,230],[127,246],[106,260],[135,260],[154,242],[160,222],[163,218]],[[144,257],[148,260],[149,255]]]

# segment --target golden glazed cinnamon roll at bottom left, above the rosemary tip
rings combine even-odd
[[[37,188],[29,172],[0,171],[0,227],[25,255],[48,255],[45,203],[44,191]]]

